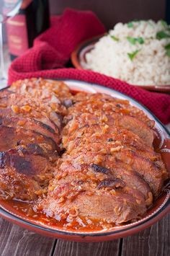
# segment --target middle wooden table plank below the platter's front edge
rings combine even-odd
[[[118,256],[121,240],[100,243],[66,242],[58,240],[54,256]]]

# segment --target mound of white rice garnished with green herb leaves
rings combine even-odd
[[[170,85],[170,56],[167,56],[165,46],[170,43],[169,38],[156,39],[160,31],[170,35],[169,27],[162,21],[153,20],[133,22],[128,24],[117,23],[108,35],[102,37],[94,49],[86,53],[85,69],[98,71],[135,85]],[[114,35],[118,40],[113,40]],[[143,44],[133,45],[127,37],[142,37]],[[133,60],[128,53],[139,52]]]

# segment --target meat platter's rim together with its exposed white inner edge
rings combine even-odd
[[[170,133],[166,129],[166,127],[161,123],[158,118],[156,118],[155,115],[152,114],[150,110],[147,109],[147,107],[143,106],[142,104],[138,103],[136,100],[134,100],[132,97],[127,96],[126,94],[123,94],[122,92],[118,92],[115,89],[110,89],[107,87],[104,87],[99,84],[91,84],[86,81],[79,81],[79,80],[73,80],[73,79],[48,79],[48,80],[58,80],[58,81],[64,81],[73,90],[79,90],[79,88],[82,91],[85,92],[99,92],[99,89],[104,91],[107,94],[117,94],[122,97],[122,99],[129,100],[130,103],[133,102],[133,105],[139,107],[141,110],[143,110],[147,115],[149,115],[149,118],[152,117],[153,120],[155,120],[156,124],[158,124],[158,127],[160,127],[164,132],[164,136],[167,140],[170,141]],[[8,88],[8,87],[6,87]],[[3,88],[5,89],[5,88]],[[104,93],[103,92],[103,93]],[[116,97],[116,96],[113,96]],[[170,170],[169,170],[170,171]],[[47,227],[47,225],[37,224],[37,221],[28,221],[26,219],[23,219],[16,214],[7,211],[5,208],[1,206],[0,203],[0,216],[4,217],[4,219],[8,219],[9,221],[12,221],[14,223],[19,224],[20,226],[24,226],[27,229],[31,229],[33,231],[37,231],[40,234],[45,234],[50,237],[60,237],[62,239],[68,239],[73,241],[79,241],[80,239],[83,239],[84,242],[99,242],[99,241],[107,241],[110,239],[117,239],[120,237],[125,237],[127,235],[135,234],[140,230],[146,229],[148,226],[151,226],[152,224],[156,223],[156,221],[160,220],[166,213],[170,211],[170,190],[169,187],[166,187],[164,189],[164,193],[166,193],[166,200],[164,200],[164,203],[161,205],[161,208],[156,211],[156,213],[153,212],[151,216],[148,216],[146,218],[142,218],[140,221],[135,222],[134,224],[125,224],[125,226],[117,226],[117,228],[114,228],[114,230],[111,229],[102,229],[101,231],[67,231],[63,230],[62,228],[50,228]],[[99,239],[98,239],[99,238]]]

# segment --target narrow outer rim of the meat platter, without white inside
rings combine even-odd
[[[164,124],[161,123],[160,120],[158,120],[158,118],[156,118],[156,116],[151,112],[151,110],[148,110],[147,107],[145,107],[144,105],[142,105],[141,103],[139,103],[137,100],[134,100],[133,97],[129,97],[128,95],[122,93],[122,92],[118,92],[117,90],[115,89],[110,89],[110,88],[107,88],[107,87],[104,87],[103,85],[99,85],[99,84],[91,84],[91,83],[88,83],[86,81],[80,81],[80,80],[74,80],[74,79],[50,79],[50,80],[57,80],[57,81],[65,81],[66,83],[68,82],[76,82],[76,83],[81,83],[81,84],[86,84],[86,86],[90,87],[91,85],[94,86],[94,87],[102,87],[104,89],[107,89],[109,90],[110,92],[116,92],[117,94],[120,94],[122,95],[122,97],[125,97],[125,99],[127,100],[130,100],[131,102],[135,102],[135,104],[137,104],[140,108],[142,107],[146,112],[148,112],[153,120],[156,121],[156,123],[158,123],[158,125],[161,126],[162,130],[165,131],[166,133],[166,138],[168,138],[170,140],[170,132],[167,130],[167,128],[164,126]],[[69,86],[69,84],[68,84]],[[5,89],[5,88],[3,88]],[[166,188],[163,189],[164,190],[167,190]],[[11,213],[9,211],[6,211],[4,208],[1,208],[1,205],[0,205],[0,216],[4,217],[4,219],[7,219],[9,221],[12,221],[16,224],[19,224],[21,226],[24,226],[26,227],[27,229],[33,229],[33,231],[37,231],[37,232],[40,232],[42,231],[42,233],[44,234],[47,234],[49,236],[53,236],[53,237],[58,237],[61,236],[61,238],[65,238],[66,236],[68,236],[69,238],[68,239],[71,239],[72,237],[72,240],[74,240],[73,238],[74,237],[81,237],[81,238],[84,238],[84,237],[89,237],[89,240],[87,242],[93,242],[93,240],[91,241],[91,237],[95,237],[96,239],[98,237],[109,237],[109,239],[114,239],[114,238],[120,238],[120,237],[125,237],[128,235],[128,233],[131,234],[135,234],[137,233],[138,231],[141,231],[143,229],[146,229],[148,226],[151,226],[153,225],[154,223],[156,223],[157,221],[159,221],[163,216],[166,215],[166,213],[169,213],[170,211],[170,190],[168,189],[167,191],[167,195],[169,198],[166,200],[166,203],[164,203],[163,206],[160,206],[160,208],[158,209],[158,211],[156,211],[155,213],[153,212],[151,214],[151,216],[148,216],[148,217],[144,217],[143,219],[140,220],[140,222],[136,222],[136,224],[134,224],[134,226],[125,226],[125,228],[123,229],[115,229],[115,230],[112,230],[112,231],[93,231],[93,232],[77,232],[77,231],[66,231],[66,230],[61,230],[61,229],[51,229],[50,227],[47,227],[47,226],[40,226],[39,224],[34,224],[30,221],[27,221],[26,219],[22,219],[22,217],[19,217],[17,215],[15,215],[14,213]],[[119,236],[119,234],[121,234]],[[116,237],[118,236],[118,237]],[[66,239],[66,238],[65,238]],[[108,240],[106,238],[106,240]],[[74,241],[77,241],[77,239],[75,239]],[[104,241],[104,239],[102,239],[101,241]],[[86,242],[86,241],[85,241]],[[96,242],[99,242],[99,241],[96,241]]]

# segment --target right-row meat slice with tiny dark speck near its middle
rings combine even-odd
[[[142,154],[151,154],[155,158],[160,158],[159,154],[153,152],[152,147],[146,148],[146,144],[139,136],[126,129],[94,123],[70,131],[67,126],[63,129],[62,137],[63,147],[67,149],[67,154],[70,154],[74,149],[80,150],[91,143],[102,143],[113,146],[128,146],[129,149],[143,151]]]

